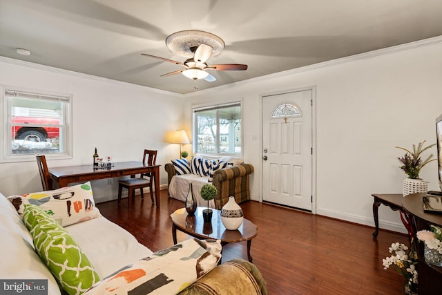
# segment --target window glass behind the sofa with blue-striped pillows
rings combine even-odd
[[[193,109],[195,153],[241,154],[241,104]]]

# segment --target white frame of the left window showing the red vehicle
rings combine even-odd
[[[35,161],[35,154],[12,154],[11,142],[11,126],[10,126],[10,109],[8,107],[8,99],[6,93],[17,92],[26,94],[29,98],[38,99],[44,97],[45,99],[63,99],[66,101],[65,124],[66,130],[64,133],[64,150],[61,153],[45,153],[46,159],[70,159],[73,158],[73,95],[68,93],[56,93],[53,91],[37,90],[30,88],[23,88],[19,86],[0,86],[0,110],[2,120],[0,122],[0,162],[31,162]],[[9,120],[9,121],[8,121]]]

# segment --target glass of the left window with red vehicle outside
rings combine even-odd
[[[7,96],[10,154],[63,153],[66,101]]]

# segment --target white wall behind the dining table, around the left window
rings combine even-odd
[[[6,58],[0,59],[0,84],[73,95],[74,158],[48,160],[48,166],[90,164],[95,146],[114,162],[141,161],[144,149],[157,149],[160,184],[167,184],[164,164],[179,148],[164,142],[164,135],[184,124],[182,95]],[[116,198],[115,179],[97,180],[93,188],[98,202]],[[41,191],[35,161],[0,164],[1,193],[32,191]]]

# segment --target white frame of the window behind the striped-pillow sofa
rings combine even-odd
[[[215,138],[215,146],[217,148],[216,153],[207,153],[207,152],[200,152],[198,151],[198,122],[195,120],[195,112],[197,111],[204,111],[204,110],[212,110],[212,109],[218,109],[218,108],[224,108],[229,106],[236,106],[238,105],[241,108],[240,114],[241,114],[241,153],[219,153],[220,149],[220,126],[219,126],[219,118],[217,117],[217,138]],[[243,120],[243,111],[242,111],[242,99],[235,100],[232,102],[226,102],[224,104],[204,104],[204,105],[198,105],[198,106],[192,106],[192,141],[193,141],[193,153],[199,153],[199,154],[206,154],[206,155],[220,155],[220,156],[236,156],[242,158],[242,154],[244,153],[244,140],[243,140],[243,133],[244,133],[244,120]]]

